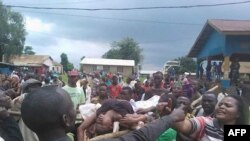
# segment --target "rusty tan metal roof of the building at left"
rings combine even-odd
[[[49,58],[49,55],[21,55],[13,57],[10,62],[17,66],[39,66]]]

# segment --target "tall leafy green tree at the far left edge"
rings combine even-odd
[[[25,42],[24,20],[21,14],[2,5],[0,1],[0,61],[20,55]]]

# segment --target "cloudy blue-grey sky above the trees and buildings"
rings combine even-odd
[[[3,4],[37,7],[124,8],[181,6],[244,0],[2,0]],[[250,3],[185,9],[132,11],[65,11],[18,9],[25,18],[26,45],[60,62],[62,52],[79,66],[80,58],[101,57],[110,43],[134,38],[143,49],[144,70],[187,55],[207,19],[250,20]]]

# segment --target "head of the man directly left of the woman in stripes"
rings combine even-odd
[[[204,114],[210,115],[214,112],[217,104],[217,95],[213,92],[207,92],[202,96],[201,105]]]

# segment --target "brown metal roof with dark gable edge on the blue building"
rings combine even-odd
[[[213,30],[225,35],[250,35],[250,20],[209,19],[194,42],[188,57],[197,57]]]

